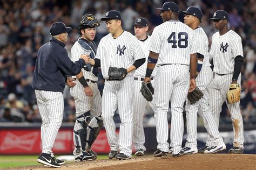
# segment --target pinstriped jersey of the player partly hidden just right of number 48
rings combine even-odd
[[[209,42],[204,30],[201,27],[194,30],[194,39],[197,42],[198,53],[204,55],[203,67],[210,67]]]

